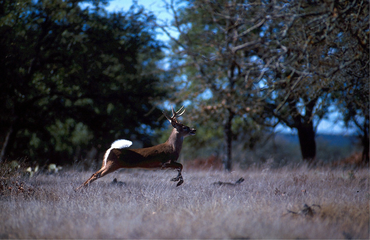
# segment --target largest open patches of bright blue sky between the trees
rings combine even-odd
[[[132,5],[132,0],[111,0],[106,9],[108,11],[127,11]],[[159,21],[169,21],[172,19],[171,14],[166,10],[165,3],[163,0],[137,0],[139,5],[144,6],[147,10],[152,11]],[[157,36],[158,39],[167,41],[169,38],[160,34]],[[277,131],[284,133],[295,133],[290,128],[278,126]],[[333,112],[329,114],[327,119],[322,119],[317,126],[317,133],[321,134],[355,134],[356,129],[347,129],[344,126],[343,121],[340,121],[338,113]]]

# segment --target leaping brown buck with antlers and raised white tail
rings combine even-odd
[[[128,147],[132,145],[131,141],[125,139],[114,141],[111,147],[105,152],[101,169],[92,174],[91,177],[77,189],[88,187],[91,182],[111,172],[117,171],[120,168],[150,170],[176,169],[178,175],[176,178],[172,178],[171,181],[178,181],[176,186],[183,184],[184,179],[181,175],[182,164],[176,161],[179,158],[184,138],[193,136],[196,133],[195,128],[185,126],[181,121],[177,121],[177,118],[185,112],[184,109],[184,111],[179,114],[183,107],[184,106],[175,112],[174,107],[171,106],[172,117],[164,111],[162,112],[171,123],[172,127],[174,127],[165,143],[153,147],[129,149]]]

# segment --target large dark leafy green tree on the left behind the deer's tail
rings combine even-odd
[[[94,1],[3,1],[0,7],[0,161],[71,162],[79,145],[108,147],[145,134],[161,43],[155,18],[132,6],[106,13]]]

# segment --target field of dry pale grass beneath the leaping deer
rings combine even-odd
[[[125,169],[75,192],[91,174],[3,169],[0,239],[369,239],[369,168]]]

